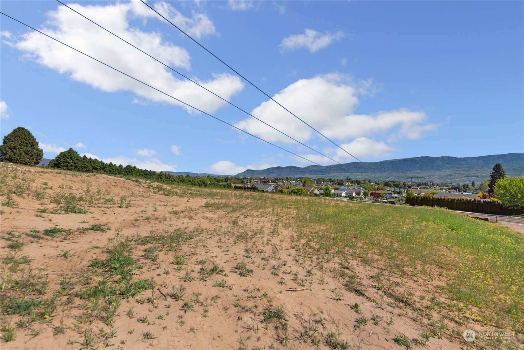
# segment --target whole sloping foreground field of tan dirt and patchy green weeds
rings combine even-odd
[[[37,199],[32,184],[43,183],[38,174],[31,182],[34,174],[19,171],[13,180],[14,169],[1,169],[2,200],[10,193],[19,200],[24,196],[20,203],[31,201],[32,212],[25,217],[32,221],[26,227],[35,228],[9,226],[13,216],[26,215],[25,204],[18,213],[3,207],[4,342],[38,340],[42,325],[52,319],[53,334],[70,335],[70,345],[113,346],[112,332],[122,336],[135,330],[115,327],[118,317],[125,317],[146,344],[154,340],[152,333],[172,327],[178,310],[175,323],[180,333],[188,332],[185,337],[193,339],[198,332],[196,317],[241,326],[248,332],[242,344],[263,341],[256,346],[266,348],[274,343],[270,348],[357,349],[364,341],[375,344],[364,336],[370,330],[406,348],[427,346],[430,337],[449,345],[450,339],[460,341],[456,328],[466,322],[522,330],[524,240],[488,222],[436,208],[359,205],[95,174],[79,187],[62,180],[65,172],[58,182],[38,185],[48,195]],[[113,185],[117,181],[132,190],[112,193],[97,184],[97,177],[108,179],[111,190],[120,190]],[[65,210],[51,201],[63,195],[64,205],[69,194],[76,196],[77,207],[90,211],[88,216],[66,220],[57,215]],[[132,207],[126,207],[128,199]],[[262,219],[268,215],[272,220]],[[347,217],[351,230],[340,225]],[[384,227],[384,220],[400,226]],[[119,222],[126,229],[118,228]],[[93,240],[101,237],[101,242]],[[32,250],[38,245],[45,248]],[[57,273],[50,273],[49,262]],[[301,293],[314,296],[308,303],[318,311],[309,317],[312,309],[301,299],[282,302],[285,295]],[[345,311],[344,320],[333,313],[333,305]],[[79,310],[75,319],[59,323],[72,307]],[[301,326],[291,326],[297,319]],[[416,332],[420,336],[397,335],[407,324],[422,327]]]

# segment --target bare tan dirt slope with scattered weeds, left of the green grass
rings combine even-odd
[[[3,190],[1,207],[3,349],[471,347],[449,320],[430,311],[428,326],[394,298],[411,284],[436,302],[438,278],[423,291],[410,277],[320,259],[276,213],[220,205],[224,190],[1,172],[16,192]]]

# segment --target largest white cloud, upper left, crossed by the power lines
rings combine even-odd
[[[69,6],[167,65],[190,69],[190,55],[187,50],[164,41],[161,35],[155,31],[146,33],[140,28],[129,26],[128,17],[160,18],[144,4],[129,2],[105,6],[81,6],[79,4],[70,4]],[[211,33],[211,27],[206,22],[209,21],[209,18],[204,15],[193,14],[193,19],[189,20],[180,15],[169,4],[162,2],[155,4],[155,6],[169,15],[170,18],[174,16],[174,19],[172,19],[176,23],[185,23],[185,28],[189,28],[188,31],[192,34],[194,34],[193,32],[200,33],[199,35]],[[160,63],[64,6],[59,6],[57,10],[51,11],[47,15],[49,20],[46,27],[41,28],[44,33],[165,91],[173,97],[208,113],[216,111],[226,103],[190,81],[175,78]],[[204,25],[203,23],[208,24]],[[214,33],[214,27],[212,31]],[[148,101],[180,105],[182,108],[194,112],[193,109],[182,103],[34,31],[29,31],[13,40],[14,46],[26,52],[28,56],[41,65],[61,74],[66,74],[73,80],[90,84],[94,88],[107,92],[131,91]],[[216,73],[209,80],[195,79],[226,100],[244,88],[244,83],[238,77],[227,73]]]

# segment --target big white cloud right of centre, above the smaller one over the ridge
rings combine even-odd
[[[436,125],[428,124],[428,116],[421,111],[399,109],[369,115],[354,114],[357,96],[365,93],[366,87],[367,82],[356,84],[343,75],[330,74],[301,79],[273,98],[330,139],[343,142],[384,134],[397,139],[418,139],[425,131],[436,128]],[[273,101],[261,103],[252,114],[301,142],[315,136],[309,126]],[[293,142],[253,118],[242,120],[236,126],[268,141]]]

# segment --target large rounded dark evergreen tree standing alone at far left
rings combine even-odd
[[[4,136],[0,145],[0,158],[4,162],[37,165],[43,158],[43,151],[31,132],[19,126]]]

